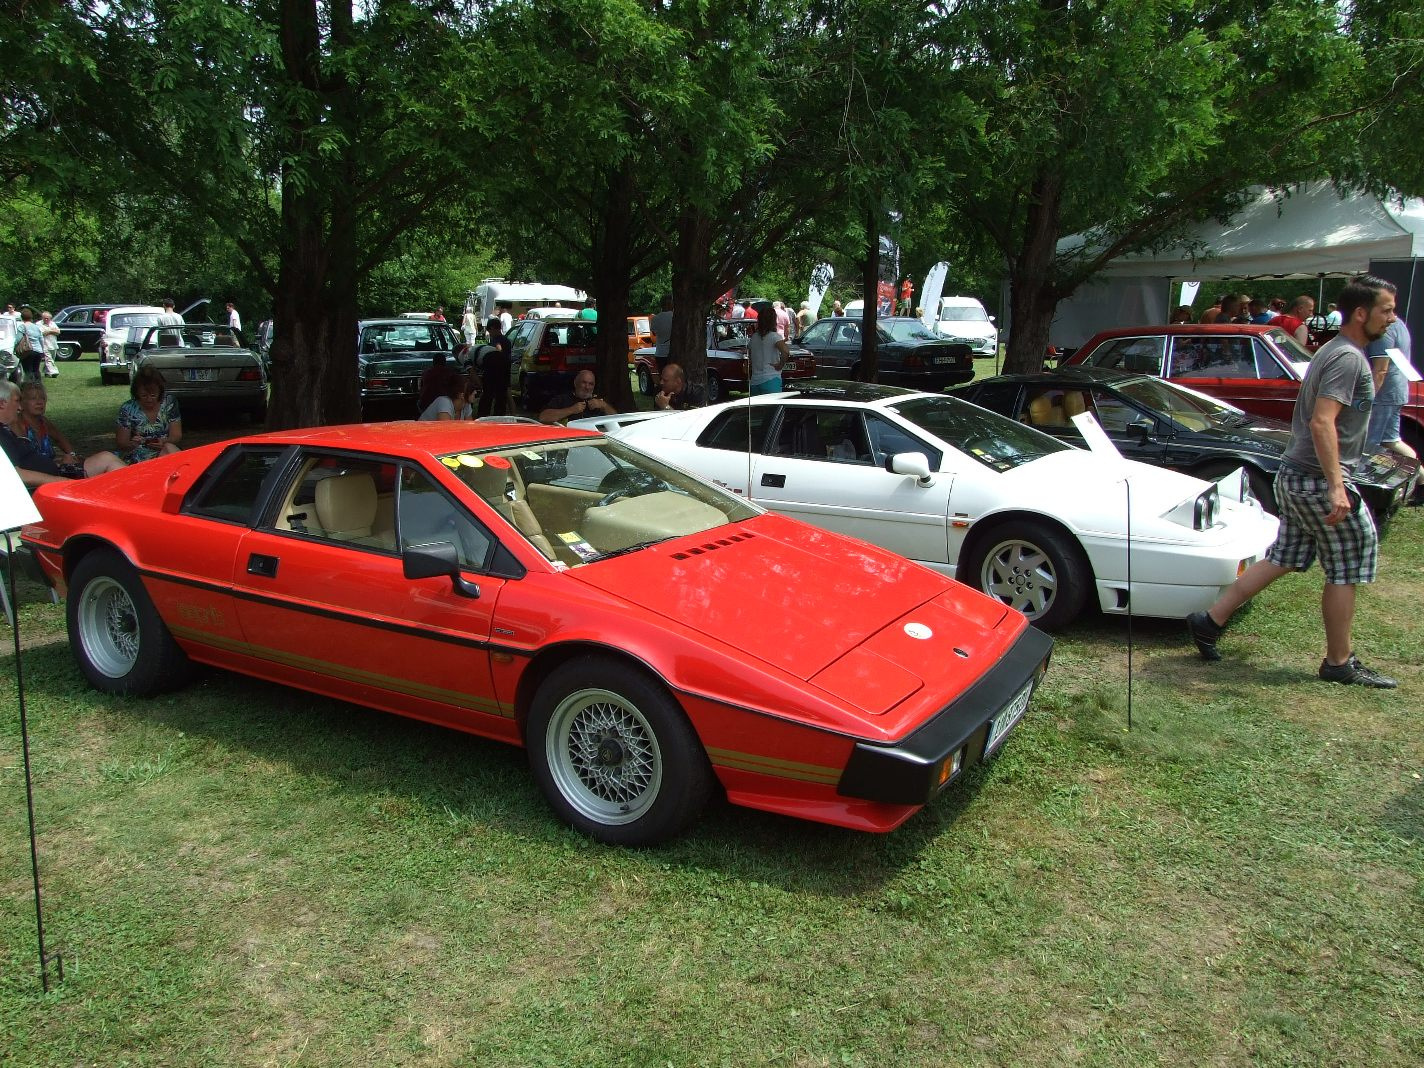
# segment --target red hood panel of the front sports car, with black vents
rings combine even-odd
[[[954,625],[965,632],[991,631],[1007,614],[997,601],[903,557],[780,515],[568,574],[800,679],[934,598],[953,607]],[[880,656],[907,659],[904,668],[921,666],[901,658],[897,642],[870,645]],[[923,645],[904,645],[923,655]]]

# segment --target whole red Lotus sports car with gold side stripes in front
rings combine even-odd
[[[256,434],[36,504],[95,688],[198,661],[523,745],[609,843],[718,786],[891,830],[1000,748],[1051,652],[968,587],[580,430]]]

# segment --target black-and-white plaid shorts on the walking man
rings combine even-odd
[[[1276,473],[1280,533],[1266,551],[1266,560],[1292,571],[1304,571],[1319,555],[1326,581],[1331,585],[1373,582],[1380,560],[1380,538],[1360,491],[1350,483],[1344,488],[1354,507],[1349,515],[1329,527],[1326,517],[1330,514],[1330,484],[1313,474],[1296,474],[1282,467]]]

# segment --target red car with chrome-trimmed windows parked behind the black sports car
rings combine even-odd
[[[1256,416],[1290,422],[1310,353],[1276,326],[1129,326],[1094,335],[1068,363],[1156,375]],[[1424,383],[1410,383],[1400,436],[1424,454]]]

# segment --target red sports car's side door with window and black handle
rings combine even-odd
[[[265,521],[238,547],[232,584],[259,674],[488,735],[513,708],[491,681],[506,580],[493,534],[422,467],[302,451]],[[447,577],[407,580],[400,551],[451,541],[480,595]]]

